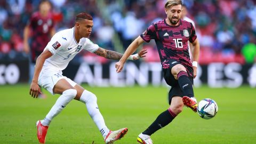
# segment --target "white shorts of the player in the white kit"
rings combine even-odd
[[[51,94],[55,94],[53,92],[53,87],[62,78],[66,79],[71,86],[74,87],[76,85],[76,83],[72,81],[70,78],[67,78],[66,76],[62,76],[61,70],[55,70],[55,69],[42,69],[38,77],[38,85],[42,86],[45,90],[49,91]]]

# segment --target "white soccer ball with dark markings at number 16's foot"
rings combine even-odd
[[[199,101],[197,113],[204,119],[213,118],[218,112],[217,103],[212,99],[203,99]]]

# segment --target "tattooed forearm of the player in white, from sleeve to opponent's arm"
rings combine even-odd
[[[119,60],[122,58],[123,54],[115,52],[115,51],[109,51],[106,49],[103,49],[99,47],[97,51],[94,52],[95,54],[107,58],[107,59],[112,59],[112,60]]]

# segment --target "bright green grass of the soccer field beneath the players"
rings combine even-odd
[[[98,97],[100,111],[109,129],[128,127],[125,137],[115,143],[137,143],[139,133],[166,110],[166,87],[89,87]],[[29,85],[0,86],[0,143],[38,143],[35,122],[44,118],[58,98],[30,97]],[[195,89],[197,100],[214,99],[218,114],[209,120],[184,108],[172,123],[152,135],[154,143],[255,143],[256,90]],[[103,143],[103,138],[82,102],[71,101],[52,121],[46,143]]]

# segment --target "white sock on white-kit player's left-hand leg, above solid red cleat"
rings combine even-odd
[[[49,126],[52,119],[57,116],[60,111],[67,106],[67,104],[76,97],[77,91],[75,89],[69,89],[63,91],[56,103],[53,105],[52,109],[46,115],[46,117],[41,121],[42,125]]]

